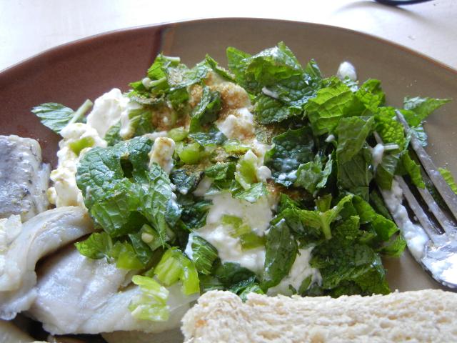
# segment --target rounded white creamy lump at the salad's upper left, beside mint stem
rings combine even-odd
[[[99,133],[102,138],[108,129],[117,124],[121,113],[126,109],[130,99],[117,89],[103,94],[94,102],[94,109],[87,116],[87,124]]]

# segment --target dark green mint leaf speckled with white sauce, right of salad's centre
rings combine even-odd
[[[289,187],[296,180],[300,164],[313,161],[313,150],[313,134],[308,127],[289,129],[273,137],[273,148],[265,155],[265,165],[271,169],[276,183]]]

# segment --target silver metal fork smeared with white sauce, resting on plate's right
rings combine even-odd
[[[457,194],[452,191],[441,173],[438,172],[431,157],[423,149],[421,142],[411,131],[400,111],[396,111],[396,118],[403,124],[405,131],[411,135],[411,147],[416,152],[423,171],[425,171],[426,176],[428,176],[441,195],[447,207],[440,206],[427,187],[424,189],[418,187],[410,188],[403,177],[395,177],[398,186],[403,191],[403,197],[406,199],[409,209],[413,212],[413,219],[421,224],[423,231],[428,235],[428,242],[425,242],[421,256],[418,256],[418,254],[413,254],[413,256],[431,274],[433,279],[445,287],[457,291]],[[378,143],[382,143],[378,134],[375,134],[375,138]],[[413,194],[414,192],[420,194],[420,197]],[[388,202],[388,192],[383,191],[381,194],[383,194],[384,200]],[[404,235],[404,228],[401,227],[404,222],[398,216],[393,216],[393,219]],[[408,239],[406,240],[408,242]],[[408,242],[408,247],[411,251],[410,244],[411,242]]]

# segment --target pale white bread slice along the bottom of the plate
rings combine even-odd
[[[200,297],[182,320],[187,343],[457,342],[457,294],[437,289],[371,297]]]

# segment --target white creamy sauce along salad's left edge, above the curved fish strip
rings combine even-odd
[[[63,139],[59,142],[59,159],[57,168],[51,172],[51,180],[54,186],[47,191],[48,199],[56,207],[80,206],[84,207],[84,199],[76,185],[76,170],[81,159],[87,151],[94,146],[106,147],[106,141],[99,136],[99,132],[89,124],[74,123],[64,127],[61,131]],[[79,155],[70,149],[69,144],[79,139],[91,138],[94,144],[82,149]]]

